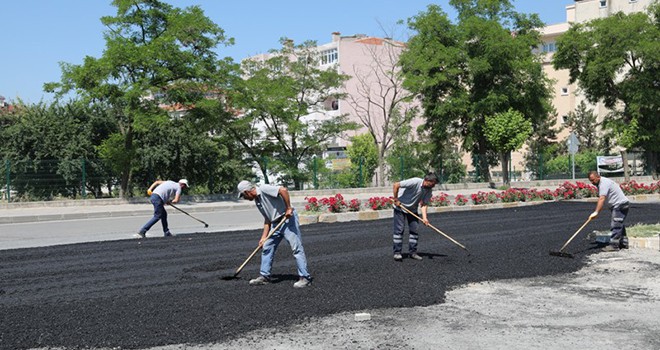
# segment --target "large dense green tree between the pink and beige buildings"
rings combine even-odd
[[[548,131],[550,81],[530,49],[541,43],[543,23],[514,12],[508,0],[450,4],[458,12],[455,25],[436,5],[408,20],[415,34],[400,59],[404,87],[420,98],[436,147],[459,136],[475,167],[485,170],[496,159],[484,135],[486,116],[513,109],[524,112],[535,136]],[[487,171],[481,177],[490,181]]]

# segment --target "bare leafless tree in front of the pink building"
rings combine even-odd
[[[377,186],[385,183],[385,155],[393,138],[409,125],[417,114],[413,94],[403,88],[403,76],[398,66],[403,43],[384,39],[365,44],[368,65],[354,66],[354,79],[346,84],[357,93],[347,98],[354,115],[371,134],[378,149]]]

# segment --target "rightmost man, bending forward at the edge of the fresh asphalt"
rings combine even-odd
[[[628,236],[626,235],[626,226],[623,221],[628,215],[630,201],[623,193],[621,187],[614,181],[600,176],[598,172],[589,173],[589,181],[598,187],[598,203],[589,219],[595,219],[605,204],[612,211],[612,220],[610,222],[610,244],[603,248],[603,251],[615,252],[621,248],[628,248]]]

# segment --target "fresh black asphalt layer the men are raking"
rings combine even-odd
[[[0,348],[222,342],[337,312],[438,304],[465,283],[568,273],[599,251],[585,237],[606,230],[609,213],[571,242],[574,259],[549,251],[594,206],[553,202],[430,214],[434,226],[469,251],[422,227],[423,261],[393,261],[391,219],[302,226],[315,277],[305,289],[292,287],[296,268],[286,242],[274,264],[275,283],[248,285],[258,275],[259,255],[240,279],[222,279],[254,250],[260,230],[0,251]],[[627,224],[657,223],[658,213],[660,204],[635,204]]]

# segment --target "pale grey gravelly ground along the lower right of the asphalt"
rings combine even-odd
[[[590,255],[555,276],[480,282],[440,305],[364,310],[265,328],[223,344],[154,349],[659,349],[660,253]]]

